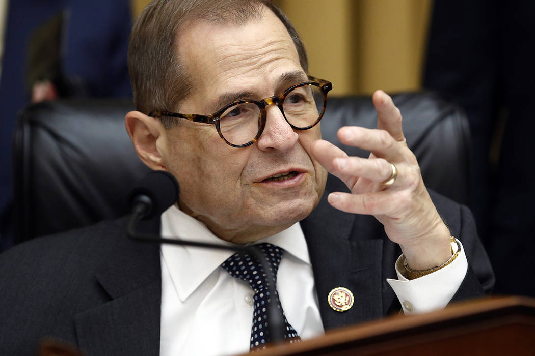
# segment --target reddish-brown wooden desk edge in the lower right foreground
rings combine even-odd
[[[492,297],[330,331],[255,355],[535,355],[535,299]]]

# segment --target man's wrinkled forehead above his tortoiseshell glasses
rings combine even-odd
[[[265,92],[276,90],[286,73],[306,78],[292,38],[268,9],[240,26],[190,22],[178,33],[178,54],[192,78],[193,96],[207,99],[240,90],[269,96]]]

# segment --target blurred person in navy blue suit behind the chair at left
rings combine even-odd
[[[132,96],[126,64],[129,0],[4,0],[2,5],[0,251],[13,244],[11,142],[19,110],[30,101]]]

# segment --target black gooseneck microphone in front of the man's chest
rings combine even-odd
[[[254,256],[261,264],[266,272],[269,280],[269,292],[272,298],[268,303],[268,327],[270,332],[270,341],[280,343],[284,340],[284,320],[282,314],[278,313],[278,308],[275,305],[275,281],[269,271],[269,265],[264,256],[257,249],[248,246],[224,246],[212,243],[186,241],[178,239],[166,239],[159,235],[141,233],[135,231],[137,222],[141,219],[151,219],[162,215],[171,205],[178,201],[180,187],[177,179],[166,171],[151,171],[143,179],[141,179],[132,188],[128,194],[128,201],[131,206],[132,217],[128,223],[127,233],[132,239],[137,241],[148,241],[156,243],[170,243],[182,246],[194,246],[202,248],[210,248],[217,250],[231,250],[241,251]]]

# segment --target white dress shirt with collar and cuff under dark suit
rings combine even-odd
[[[161,233],[165,238],[179,236],[184,240],[233,246],[174,206],[162,214]],[[262,242],[285,250],[277,274],[277,290],[288,322],[302,339],[322,335],[314,276],[301,226],[296,223],[255,244]],[[249,351],[253,290],[246,281],[233,278],[220,267],[233,253],[162,245],[161,355],[229,355]],[[464,252],[446,268],[429,275],[442,271],[439,278],[424,276],[407,281],[399,274],[400,280],[388,280],[404,311],[423,312],[446,306],[464,278],[466,267],[461,271],[462,266],[457,266],[462,259],[466,264]],[[415,283],[418,280],[424,282]],[[435,287],[437,292],[430,290]]]

